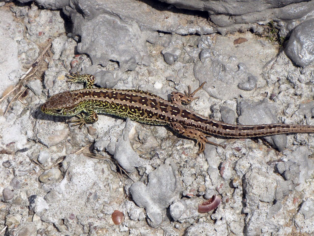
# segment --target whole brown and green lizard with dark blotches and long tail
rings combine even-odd
[[[184,137],[196,140],[199,153],[205,143],[225,147],[209,141],[206,137],[254,138],[287,133],[314,133],[314,126],[298,124],[233,125],[200,115],[182,104],[190,104],[199,98],[195,94],[204,86],[203,82],[195,91],[172,92],[171,101],[153,93],[136,89],[114,89],[94,87],[95,77],[90,74],[67,74],[69,82],[85,83],[85,88],[64,91],[52,95],[41,111],[49,115],[77,116],[68,122],[79,125],[92,124],[98,120],[97,113],[129,117],[133,121],[151,125],[167,125]]]

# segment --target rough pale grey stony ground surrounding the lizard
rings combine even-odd
[[[198,155],[193,140],[164,126],[99,115],[78,129],[39,110],[47,97],[83,87],[66,82],[71,71],[165,99],[206,81],[187,106],[202,115],[314,125],[313,1],[19,2],[0,4],[0,97],[52,46],[28,92],[0,103],[5,236],[314,234],[313,134],[211,137],[226,148],[208,144]],[[284,48],[262,37],[271,20],[280,36],[291,33]],[[218,208],[199,213],[214,194]]]

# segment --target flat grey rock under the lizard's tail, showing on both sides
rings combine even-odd
[[[260,102],[238,100],[238,114],[238,121],[241,125],[278,123],[276,107],[274,104],[268,103],[266,99]],[[287,135],[285,134],[264,137],[264,139],[279,151],[283,151],[287,145]]]

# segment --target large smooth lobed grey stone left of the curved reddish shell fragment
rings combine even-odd
[[[130,187],[130,193],[138,206],[145,207],[149,225],[158,227],[165,209],[179,198],[180,189],[178,168],[171,159],[166,159],[165,164],[149,173],[147,185],[135,182]]]

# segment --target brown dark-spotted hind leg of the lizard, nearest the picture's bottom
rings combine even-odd
[[[192,129],[192,128],[184,128],[179,122],[170,122],[169,126],[171,127],[171,129],[173,129],[177,133],[179,133],[179,134],[181,134],[187,138],[195,139],[196,144],[199,144],[198,154],[200,154],[204,151],[205,143],[210,143],[210,144],[213,144],[215,146],[220,146],[220,147],[225,148],[224,145],[214,143],[214,142],[207,140],[206,136],[208,136],[208,135],[204,134],[203,132],[200,132],[200,131],[198,131],[196,129]]]

